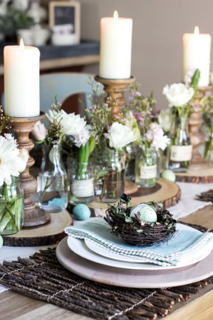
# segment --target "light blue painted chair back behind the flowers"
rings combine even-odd
[[[93,75],[84,73],[51,73],[40,76],[40,109],[46,112],[54,102],[57,94],[57,100],[63,103],[68,97],[74,94],[85,95],[85,108],[88,108],[90,101],[87,98],[89,93],[92,94],[91,87],[87,83],[88,76]],[[99,87],[97,94],[103,90],[103,85]],[[72,109],[70,110],[72,112]]]

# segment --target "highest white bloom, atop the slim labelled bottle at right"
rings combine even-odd
[[[169,101],[169,107],[182,107],[192,99],[194,89],[183,83],[174,83],[170,86],[167,84],[163,89],[163,94]]]

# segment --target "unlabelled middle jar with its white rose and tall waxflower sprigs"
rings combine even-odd
[[[97,96],[99,83],[89,80],[93,95],[89,95],[91,106],[86,109],[95,137],[94,150],[94,196],[95,200],[112,202],[124,192],[125,154],[123,148],[136,140],[134,130],[129,128],[122,113],[114,116],[117,101],[111,97]]]

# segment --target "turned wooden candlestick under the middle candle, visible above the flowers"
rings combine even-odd
[[[104,91],[107,92],[108,97],[118,100],[118,106],[114,107],[112,111],[114,115],[118,115],[120,107],[125,103],[125,88],[127,84],[131,84],[135,81],[135,77],[131,76],[129,79],[106,79],[95,76],[94,79],[104,85]]]

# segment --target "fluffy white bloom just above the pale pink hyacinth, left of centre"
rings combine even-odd
[[[86,121],[73,112],[64,115],[60,125],[62,126],[61,132],[63,134],[75,135],[80,133],[81,129],[86,125]]]

